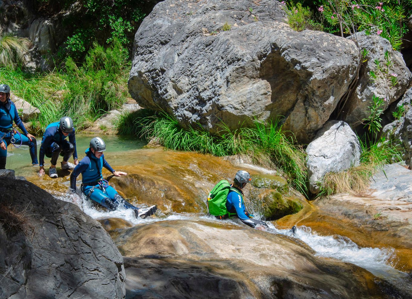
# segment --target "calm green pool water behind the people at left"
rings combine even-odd
[[[135,137],[129,136],[117,136],[117,135],[98,135],[98,134],[76,134],[76,146],[77,155],[79,160],[84,157],[84,151],[89,147],[90,139],[93,137],[101,137],[106,143],[105,155],[110,153],[122,153],[125,151],[136,150],[142,148],[146,143],[136,139]],[[37,138],[37,155],[40,150],[41,136],[36,136]],[[61,162],[62,158],[59,158],[58,164]],[[44,157],[44,162],[46,167],[50,165],[50,158]],[[70,158],[69,162],[73,162]],[[14,169],[16,175],[23,175],[23,167],[31,165],[30,153],[28,151],[28,146],[21,146],[20,148],[14,148],[14,146],[9,145],[7,147],[7,169]],[[38,171],[39,166],[33,167],[33,171]],[[27,173],[27,169],[25,171]]]

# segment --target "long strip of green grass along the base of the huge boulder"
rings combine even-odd
[[[164,112],[150,116],[141,113],[121,116],[118,133],[131,132],[128,127],[133,126],[133,134],[147,140],[156,137],[165,148],[173,150],[216,156],[248,154],[257,164],[276,167],[299,191],[307,192],[306,155],[302,147],[295,145],[293,136],[282,130],[279,121],[255,121],[254,127],[238,130],[229,130],[222,124],[219,134],[210,134],[201,125],[183,128],[176,118]]]

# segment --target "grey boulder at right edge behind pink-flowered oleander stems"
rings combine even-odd
[[[368,107],[371,105],[373,95],[386,98],[382,107],[385,110],[410,88],[412,82],[412,74],[407,68],[402,54],[393,50],[387,39],[379,35],[365,35],[365,32],[359,32],[356,34],[356,40],[360,49],[368,51],[368,60],[361,67],[359,80],[353,86],[353,92],[342,107],[341,119],[353,128],[361,125],[363,119],[370,115]],[[389,67],[386,66],[387,60],[384,55],[386,51],[391,62]],[[379,61],[384,72],[378,70],[375,60]],[[371,71],[377,76],[375,80],[370,76]],[[395,86],[391,84],[391,74],[396,75],[398,83]]]

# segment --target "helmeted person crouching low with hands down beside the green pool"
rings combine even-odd
[[[69,137],[69,141],[66,140],[66,137]],[[52,165],[49,168],[51,178],[57,178],[56,164],[59,155],[63,156],[62,169],[73,170],[79,163],[77,160],[75,128],[70,117],[63,116],[60,121],[51,123],[46,127],[39,151],[40,176],[44,174],[44,155],[52,158],[50,160]],[[71,155],[73,155],[74,164],[68,162]]]

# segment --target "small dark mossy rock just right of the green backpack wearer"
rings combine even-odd
[[[282,197],[281,193],[271,190],[262,195],[263,215],[266,220],[276,220],[283,216],[295,214],[303,209],[300,202]]]

